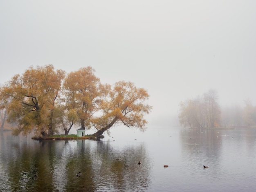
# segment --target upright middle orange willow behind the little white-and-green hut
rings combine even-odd
[[[99,78],[92,67],[83,67],[67,74],[64,82],[64,95],[67,113],[79,119],[81,128],[90,128],[90,117],[97,112],[101,97],[105,93]],[[74,114],[76,111],[76,114]]]

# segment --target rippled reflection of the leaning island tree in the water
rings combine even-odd
[[[144,143],[113,146],[110,142],[98,142],[92,154],[94,183],[107,191],[146,190],[149,181],[150,163]]]

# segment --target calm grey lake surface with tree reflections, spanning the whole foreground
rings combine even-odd
[[[0,132],[0,191],[256,190],[255,129],[110,131],[100,141],[36,141]]]

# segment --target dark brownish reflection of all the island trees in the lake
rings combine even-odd
[[[144,191],[150,183],[144,143],[26,142],[10,135],[1,132],[0,191]]]

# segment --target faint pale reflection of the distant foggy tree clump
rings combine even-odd
[[[222,163],[220,153],[222,148],[222,138],[219,136],[219,131],[215,129],[183,129],[180,133],[180,144],[182,146],[182,160],[188,167],[189,174],[195,176],[203,165],[210,167],[218,167],[214,170],[215,173],[206,174],[208,179],[220,178]]]

